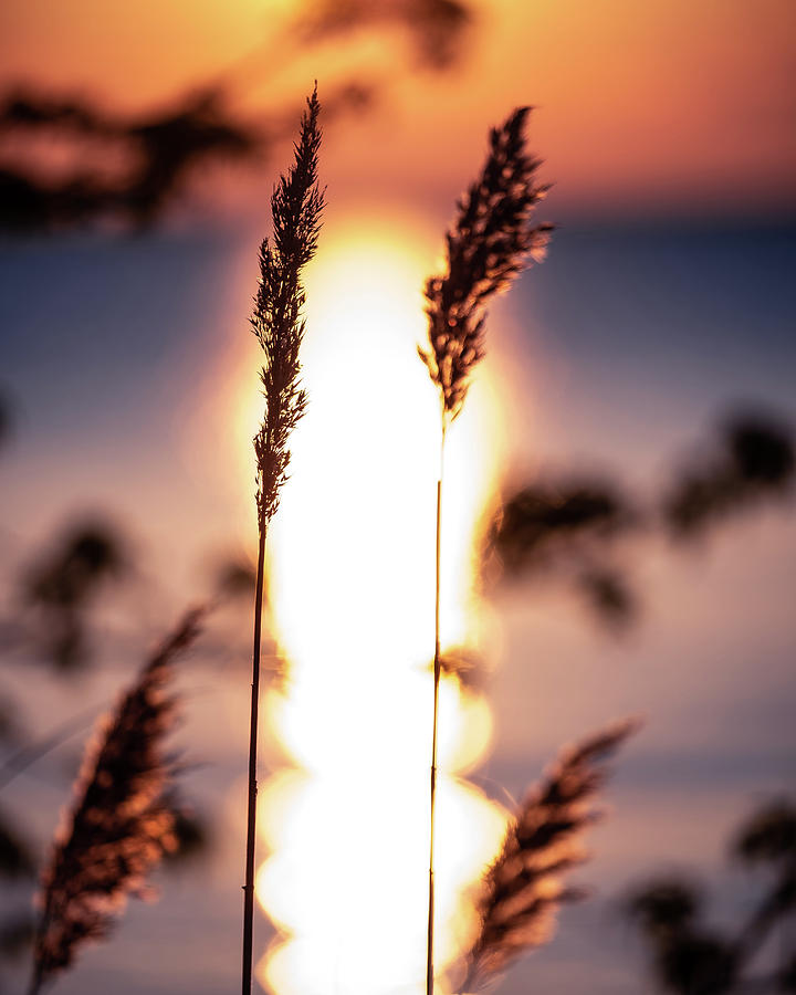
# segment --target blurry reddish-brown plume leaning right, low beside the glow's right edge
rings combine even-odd
[[[555,914],[583,892],[561,876],[586,859],[584,831],[607,777],[604,762],[639,727],[628,719],[563,751],[545,781],[519,806],[503,850],[484,879],[481,929],[467,957],[463,992],[483,987],[515,957],[545,943]]]

